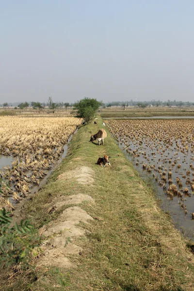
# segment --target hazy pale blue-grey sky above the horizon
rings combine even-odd
[[[0,103],[194,102],[193,0],[0,0]]]

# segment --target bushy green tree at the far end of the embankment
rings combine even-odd
[[[102,102],[97,101],[94,98],[84,98],[77,101],[73,110],[77,112],[77,117],[84,118],[86,122],[89,122],[94,118],[95,111],[99,108]]]

